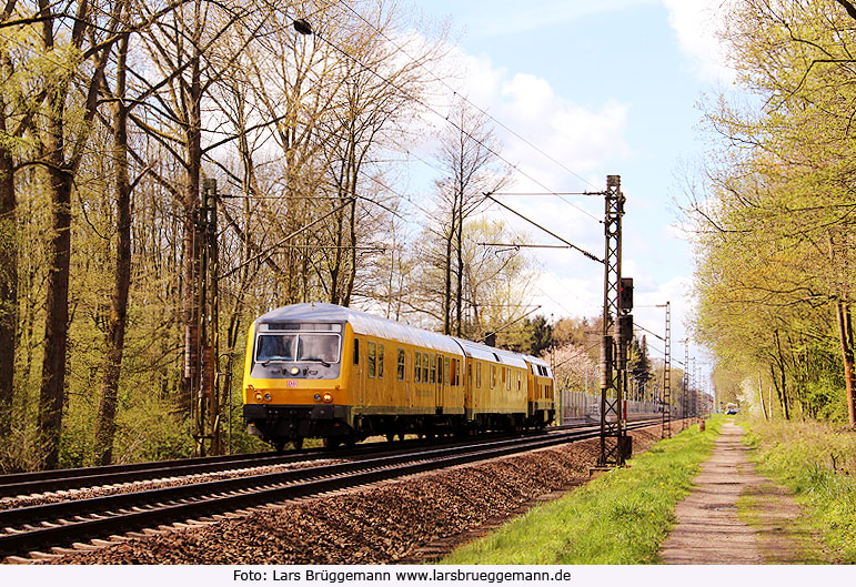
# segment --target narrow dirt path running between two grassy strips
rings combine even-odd
[[[732,422],[723,426],[713,456],[677,505],[677,524],[659,549],[668,565],[823,563],[810,533],[798,523],[799,507],[769,479],[755,474]]]

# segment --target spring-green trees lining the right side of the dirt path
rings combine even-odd
[[[856,7],[723,4],[733,90],[684,174],[694,331],[717,388],[763,417],[854,419]]]

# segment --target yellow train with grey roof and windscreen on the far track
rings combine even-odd
[[[250,433],[280,451],[543,427],[555,414],[540,358],[318,302],[253,322],[243,398]]]

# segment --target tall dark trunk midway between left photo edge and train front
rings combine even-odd
[[[107,331],[104,378],[95,423],[95,464],[109,465],[113,459],[115,407],[119,377],[124,352],[128,316],[128,292],[131,287],[131,184],[128,176],[128,108],[124,97],[128,37],[119,44],[117,64],[117,101],[113,102],[113,164],[115,165],[117,251],[115,281]]]

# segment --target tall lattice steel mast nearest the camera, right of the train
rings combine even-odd
[[[601,340],[601,452],[597,468],[623,466],[628,449],[624,422],[624,388],[626,386],[626,341],[621,328],[626,318],[622,308],[622,216],[625,198],[621,191],[621,175],[606,176],[604,192],[604,295],[603,336]],[[630,310],[630,308],[628,308]],[[631,322],[633,336],[633,323]],[[616,336],[617,335],[617,336]],[[617,338],[617,341],[616,341]],[[617,343],[617,344],[616,344]],[[614,391],[614,397],[610,392]]]

